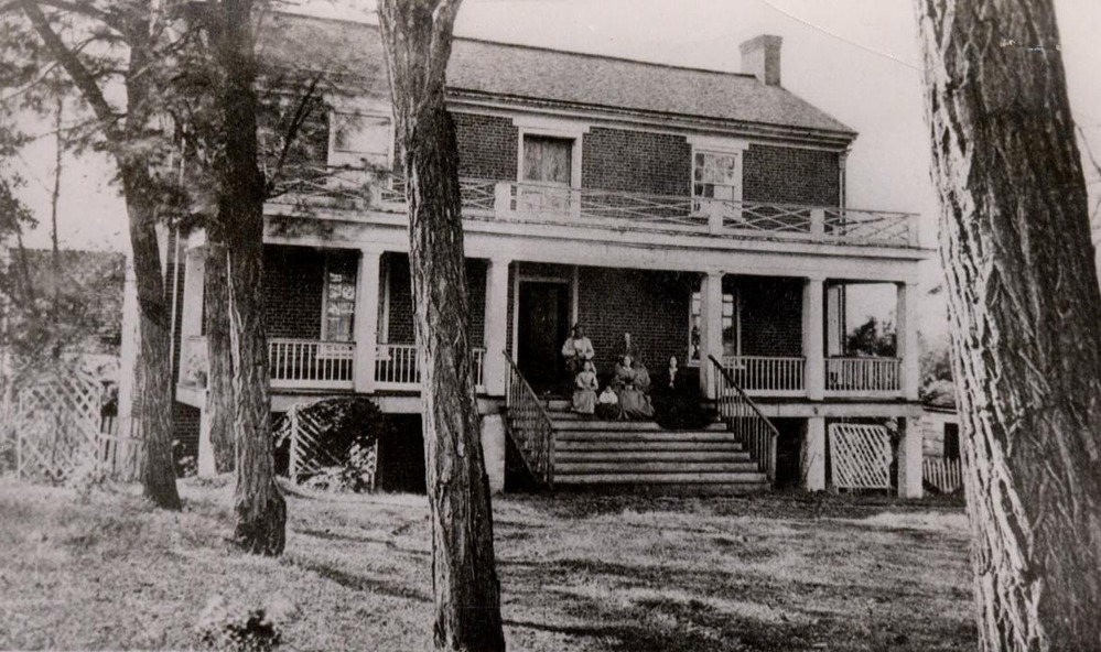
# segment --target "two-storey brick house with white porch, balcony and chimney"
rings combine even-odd
[[[313,169],[371,169],[291,183],[267,206],[272,410],[355,392],[387,413],[415,414],[401,181],[379,172],[396,155],[377,28],[271,20],[273,56],[309,59],[343,47],[350,54],[342,65],[360,78],[356,94],[327,98],[319,112]],[[740,459],[768,466],[769,480],[824,488],[833,422],[920,416],[914,316],[917,263],[929,252],[918,246],[915,216],[846,207],[845,156],[856,134],[780,85],[778,37],[743,44],[742,61],[743,73],[728,74],[455,40],[447,100],[471,329],[482,345],[483,441],[498,486],[506,448],[525,457],[531,443],[523,432],[531,424],[516,419],[523,410],[549,420],[544,438],[558,437],[543,444],[557,447],[558,466],[538,464],[551,465],[559,483],[568,475],[563,433],[573,426],[542,391],[558,387],[559,349],[579,322],[603,373],[629,332],[652,371],[679,358],[705,402],[752,398],[775,441],[770,449],[738,444],[751,449]],[[204,404],[203,247],[201,231],[185,236],[177,399],[190,408],[177,411],[181,422],[201,422]],[[897,286],[893,357],[844,351],[845,289],[868,282]],[[909,457],[898,466],[913,468],[920,434],[903,430],[899,455]],[[627,431],[635,432],[613,434],[661,439],[652,424]],[[607,471],[615,461],[597,466]],[[627,469],[620,479],[643,482],[655,468]],[[712,470],[670,481],[691,483]],[[736,469],[717,469],[727,470]],[[910,474],[900,491],[919,493],[917,477],[916,489]]]

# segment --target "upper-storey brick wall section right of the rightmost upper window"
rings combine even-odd
[[[835,152],[754,144],[743,165],[746,202],[836,206],[841,200]]]

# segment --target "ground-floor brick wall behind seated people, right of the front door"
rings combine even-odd
[[[691,276],[672,272],[582,268],[579,320],[596,349],[597,371],[614,368],[612,351],[630,333],[643,362],[657,373],[670,356],[688,352]]]

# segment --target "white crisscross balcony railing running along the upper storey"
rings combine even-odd
[[[404,181],[353,169],[302,166],[269,203],[301,209],[403,213]],[[917,216],[883,210],[700,199],[532,183],[460,180],[468,219],[650,230],[709,237],[917,247]]]

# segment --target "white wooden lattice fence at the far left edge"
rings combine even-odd
[[[0,450],[15,476],[62,482],[79,469],[114,472],[117,422],[105,420],[104,398],[102,384],[79,369],[20,377],[0,428]]]

